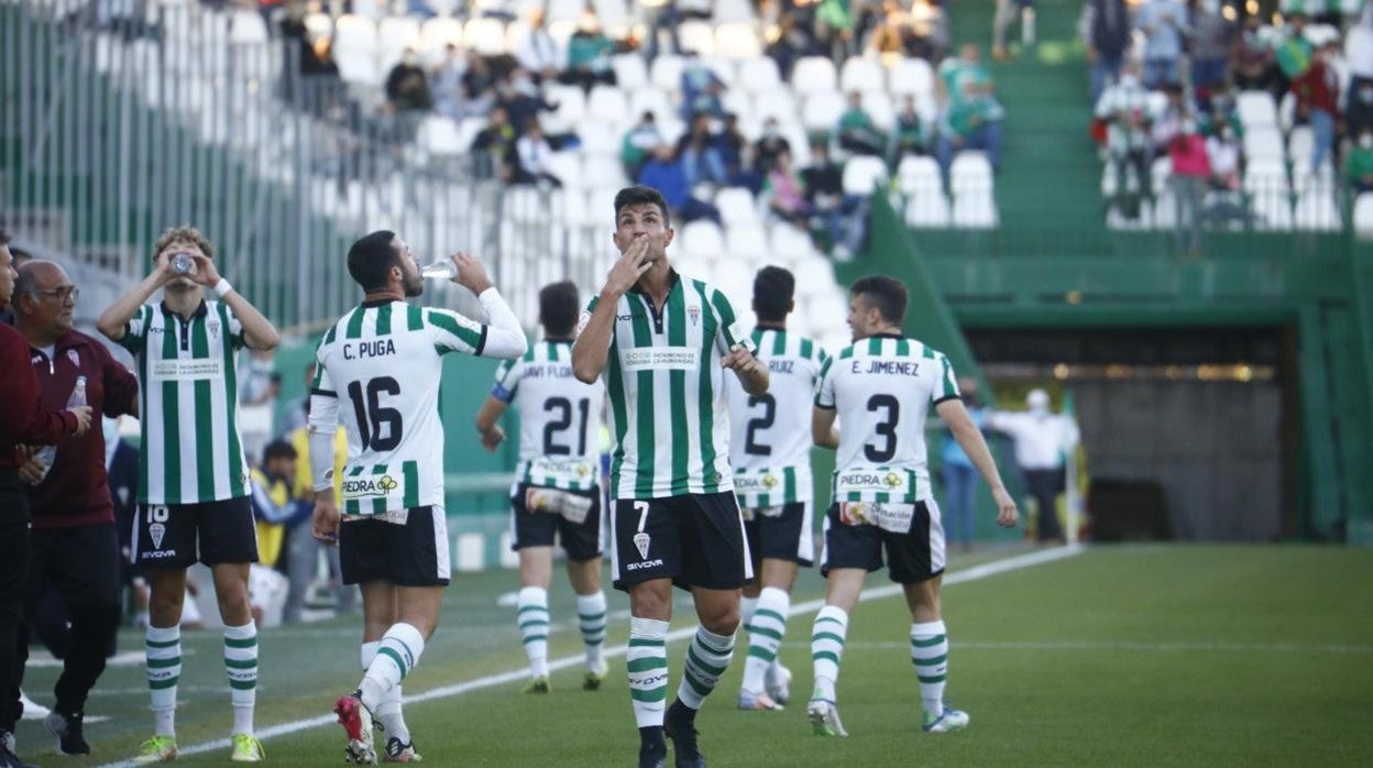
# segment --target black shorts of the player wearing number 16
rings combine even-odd
[[[339,566],[343,584],[446,587],[452,567],[443,507],[345,517],[339,525]]]

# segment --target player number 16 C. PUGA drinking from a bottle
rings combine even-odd
[[[349,249],[349,275],[365,295],[324,334],[316,352],[312,532],[321,541],[338,541],[343,583],[362,591],[365,675],[334,705],[347,734],[347,758],[357,764],[376,763],[373,713],[386,730],[387,761],[420,758],[401,714],[401,680],[434,633],[450,573],[438,418],[443,354],[511,360],[527,348],[519,320],[482,264],[464,253],[452,258],[453,282],[479,297],[490,324],[405,304],[424,291],[424,280],[409,246],[383,229]],[[342,522],[332,459],[339,418],[349,438]]]

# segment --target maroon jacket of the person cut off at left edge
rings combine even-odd
[[[0,323],[0,468],[16,468],[16,444],[49,445],[77,430],[77,418],[44,411],[38,376],[29,363],[29,343]],[[66,407],[66,400],[62,407]]]

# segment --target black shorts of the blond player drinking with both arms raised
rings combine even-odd
[[[139,567],[255,563],[257,523],[247,496],[200,504],[139,504],[129,556]]]

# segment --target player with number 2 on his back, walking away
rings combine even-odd
[[[787,331],[795,290],[796,279],[780,267],[763,267],[754,278],[758,326],[750,338],[772,376],[768,393],[748,396],[737,376],[725,376],[735,495],[757,576],[740,600],[748,657],[739,709],[781,709],[791,698],[791,670],[777,661],[777,648],[796,570],[816,555],[806,415],[827,356],[814,341]]]

